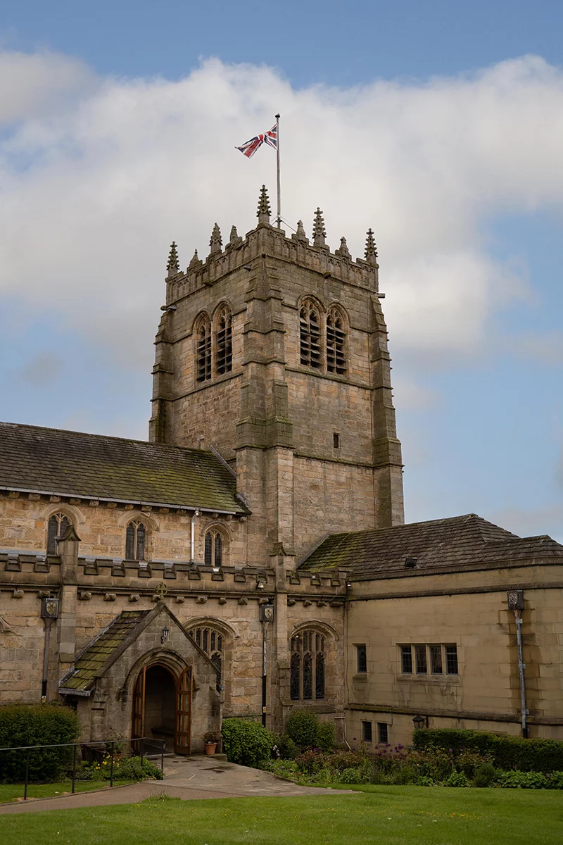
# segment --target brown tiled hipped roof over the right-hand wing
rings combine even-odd
[[[352,577],[391,573],[416,575],[417,570],[446,569],[471,564],[556,557],[563,546],[551,537],[517,537],[477,514],[451,519],[411,522],[371,531],[332,534],[300,564],[301,570],[345,570]],[[405,569],[405,559],[416,559]]]

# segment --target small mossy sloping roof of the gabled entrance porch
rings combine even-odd
[[[100,677],[106,663],[133,633],[149,610],[124,610],[95,637],[74,662],[73,673],[62,679],[64,690],[88,690]]]

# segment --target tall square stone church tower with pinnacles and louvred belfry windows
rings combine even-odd
[[[322,212],[272,226],[262,188],[257,227],[235,226],[185,272],[172,244],[156,335],[156,443],[213,447],[252,511],[247,563],[287,567],[329,533],[403,522],[401,447],[373,233],[365,259],[333,253]]]

